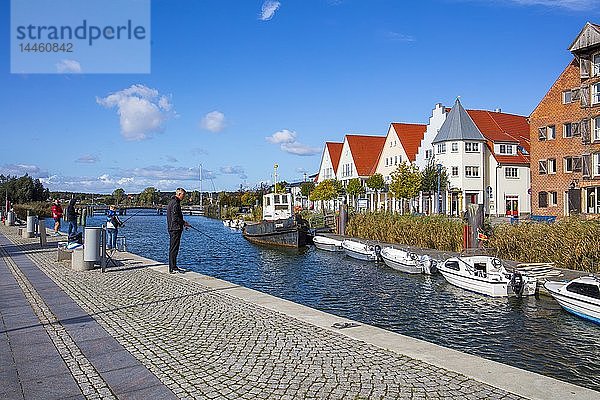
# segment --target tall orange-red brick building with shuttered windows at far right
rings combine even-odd
[[[529,118],[533,214],[600,214],[600,25],[588,22],[569,51]]]

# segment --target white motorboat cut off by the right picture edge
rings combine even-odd
[[[569,282],[544,283],[558,304],[578,317],[600,324],[600,279],[582,276]]]

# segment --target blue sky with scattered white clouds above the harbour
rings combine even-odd
[[[198,189],[199,164],[204,190],[274,163],[302,180],[325,141],[426,123],[456,96],[529,115],[598,3],[153,0],[150,74],[11,74],[3,1],[0,173],[101,193]]]

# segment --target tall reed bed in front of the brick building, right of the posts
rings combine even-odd
[[[488,246],[498,257],[521,262],[553,262],[560,268],[599,272],[600,221],[571,217],[552,224],[498,225]]]

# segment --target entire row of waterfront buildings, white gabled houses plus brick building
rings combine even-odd
[[[427,124],[327,142],[317,182],[379,173],[390,183],[402,162],[433,162],[448,185],[421,194],[413,211],[461,215],[475,203],[490,215],[600,214],[600,26],[587,23],[569,50],[572,62],[529,117],[436,104]],[[399,209],[387,193],[365,197],[370,209]]]

